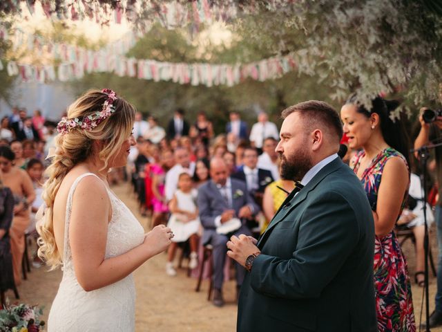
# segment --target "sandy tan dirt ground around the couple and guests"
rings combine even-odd
[[[137,212],[135,197],[131,194],[128,185],[117,185],[113,191],[128,205],[137,216],[144,228],[149,228],[149,219],[142,217]],[[436,238],[434,227],[431,233],[432,252],[436,256]],[[411,241],[403,245],[407,257],[410,275],[414,276],[414,248]],[[179,257],[179,253],[177,254]],[[436,260],[435,260],[436,263]],[[166,255],[160,254],[138,268],[135,275],[137,288],[136,302],[136,331],[164,331],[164,332],[226,332],[236,330],[236,291],[235,282],[231,280],[224,284],[224,299],[226,305],[216,308],[207,301],[209,282],[202,283],[199,293],[195,292],[197,280],[186,276],[186,270],[178,270],[176,277],[168,277],[164,272]],[[186,261],[184,261],[184,265]],[[21,296],[19,302],[39,304],[44,307],[44,320],[50,310],[52,299],[57,293],[61,279],[61,271],[48,272],[46,268],[32,268],[28,280],[19,286]],[[430,273],[430,313],[434,308],[434,293],[436,291],[436,278]],[[420,322],[423,288],[412,284],[414,313],[416,323]],[[6,293],[12,303],[16,302],[12,292]],[[425,309],[424,309],[425,310]],[[425,320],[425,311],[422,321]],[[418,329],[419,331],[419,329]],[[442,328],[432,329],[433,332],[442,332]]]

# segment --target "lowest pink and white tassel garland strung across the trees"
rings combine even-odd
[[[233,86],[244,80],[273,80],[296,69],[297,55],[270,57],[249,64],[208,64],[158,62],[153,59],[127,58],[112,55],[106,50],[86,52],[75,62],[62,62],[58,66],[32,66],[10,61],[6,65],[8,75],[20,75],[24,82],[37,80],[44,83],[53,80],[67,82],[79,80],[86,73],[115,73],[119,77],[137,77],[154,82],[171,81],[178,84],[200,84],[211,87]],[[2,65],[0,65],[0,70]]]

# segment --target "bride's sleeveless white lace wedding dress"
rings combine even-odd
[[[90,292],[84,291],[75,277],[68,233],[72,197],[81,178],[89,175],[95,176],[92,173],[82,174],[74,181],[68,194],[63,279],[50,309],[48,331],[135,331],[135,285],[132,275]],[[144,230],[132,212],[111,190],[108,190],[108,195],[113,213],[108,225],[106,259],[121,255],[144,240]]]

